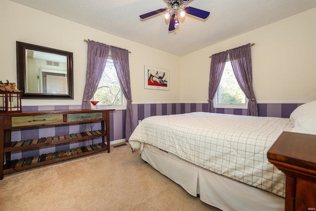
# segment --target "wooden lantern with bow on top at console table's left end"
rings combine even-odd
[[[15,88],[15,83],[0,81],[0,113],[22,112],[21,95],[22,92]]]

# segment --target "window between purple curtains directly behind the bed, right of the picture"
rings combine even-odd
[[[214,108],[248,108],[248,99],[237,82],[229,55],[214,97]]]

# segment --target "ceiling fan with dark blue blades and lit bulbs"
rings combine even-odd
[[[157,9],[152,12],[145,13],[143,15],[140,15],[139,17],[141,19],[148,18],[150,16],[165,12],[164,17],[166,19],[169,19],[169,31],[173,31],[176,29],[176,27],[180,24],[178,15],[181,17],[184,17],[186,13],[197,16],[202,19],[206,19],[209,15],[209,12],[197,9],[195,7],[183,5],[184,2],[190,1],[190,0],[166,0],[168,7]]]

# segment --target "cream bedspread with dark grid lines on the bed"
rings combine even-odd
[[[286,118],[194,112],[144,119],[129,138],[132,150],[147,143],[203,169],[285,196],[285,176],[267,152]]]

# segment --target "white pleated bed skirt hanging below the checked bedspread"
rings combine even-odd
[[[222,211],[284,211],[284,199],[198,168],[151,145],[141,158],[189,194]]]

